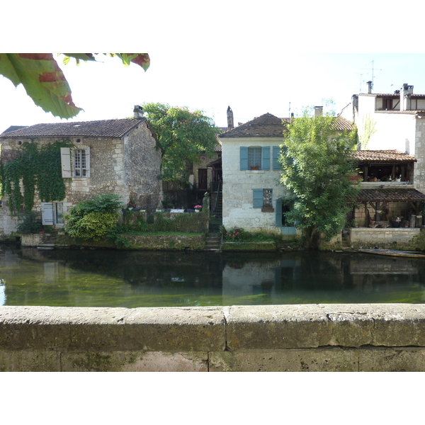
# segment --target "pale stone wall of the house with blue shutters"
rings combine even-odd
[[[280,171],[241,170],[240,147],[270,146],[272,150],[273,146],[282,144],[283,138],[275,137],[229,137],[222,140],[222,220],[227,230],[242,227],[247,232],[280,234],[274,212],[262,212],[261,208],[253,208],[254,188],[272,189],[272,205],[276,208],[276,199],[282,197],[285,192],[284,186],[278,182]]]

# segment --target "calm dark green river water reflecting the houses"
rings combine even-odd
[[[425,261],[324,252],[40,251],[0,245],[0,305],[329,302],[425,302]]]

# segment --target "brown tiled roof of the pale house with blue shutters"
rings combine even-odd
[[[248,123],[221,133],[218,137],[220,139],[225,137],[283,137],[286,125],[290,123],[290,118],[278,118],[271,113],[265,113]],[[345,118],[338,117],[336,128],[337,130],[353,130],[354,126]]]

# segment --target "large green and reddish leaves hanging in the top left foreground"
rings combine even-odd
[[[64,64],[71,57],[96,61],[98,53],[64,53]],[[119,57],[125,66],[130,62],[140,65],[145,71],[150,60],[147,53],[104,53]],[[64,73],[57,65],[52,53],[0,53],[0,75],[10,79],[16,86],[22,84],[35,105],[56,117],[72,118],[82,111],[74,105],[71,89]]]

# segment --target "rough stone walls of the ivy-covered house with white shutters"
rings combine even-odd
[[[62,141],[62,137],[38,137],[39,146]],[[66,197],[62,200],[64,212],[81,200],[92,199],[99,193],[116,193],[123,203],[130,198],[137,207],[146,208],[151,214],[162,200],[160,173],[161,154],[155,149],[155,140],[146,123],[133,130],[123,140],[114,137],[70,137],[76,149],[90,148],[90,177],[66,179]],[[4,163],[17,156],[17,149],[30,138],[7,138],[1,140],[1,157]],[[21,144],[19,143],[21,142]],[[3,210],[8,208],[7,196],[3,198]],[[40,212],[41,204],[35,193],[34,210]],[[8,211],[8,209],[7,209]],[[16,221],[16,220],[15,220]],[[3,213],[4,234],[15,230],[13,219]]]

